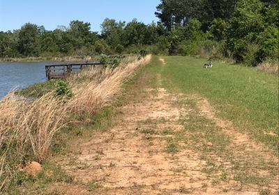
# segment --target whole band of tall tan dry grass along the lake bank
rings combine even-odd
[[[50,92],[33,101],[15,98],[13,93],[1,100],[0,192],[1,184],[15,177],[15,164],[25,155],[44,161],[50,153],[54,134],[70,123],[71,116],[94,114],[109,104],[121,91],[123,81],[150,59],[151,56],[139,61],[126,59],[114,69],[93,68],[73,75],[68,79],[75,94],[70,99]]]

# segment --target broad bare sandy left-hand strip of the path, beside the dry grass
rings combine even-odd
[[[172,136],[162,135],[163,130],[182,130],[178,121],[187,110],[174,107],[176,97],[163,88],[147,89],[146,93],[154,91],[156,95],[148,101],[123,107],[123,120],[112,130],[94,134],[92,141],[76,143],[80,154],[69,157],[75,164],[63,161],[63,167],[84,183],[100,182],[98,194],[180,194],[181,187],[203,192],[202,183],[207,179],[201,172],[205,162],[200,154],[190,149],[176,154],[165,151],[163,137]],[[143,134],[142,130],[156,134]]]

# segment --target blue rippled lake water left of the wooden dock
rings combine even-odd
[[[0,100],[15,88],[46,81],[45,65],[50,62],[0,62]]]

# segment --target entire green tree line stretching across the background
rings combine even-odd
[[[247,65],[278,59],[278,0],[161,0],[160,22],[105,19],[100,33],[71,21],[47,31],[24,24],[0,31],[0,57],[93,56],[151,52],[231,58]]]

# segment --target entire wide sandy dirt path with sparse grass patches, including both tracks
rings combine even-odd
[[[207,100],[170,94],[165,88],[145,88],[144,93],[144,100],[120,108],[123,116],[110,130],[92,132],[91,137],[73,144],[73,152],[58,163],[75,182],[57,183],[52,190],[58,194],[259,194],[278,190],[276,157],[237,132],[229,121],[218,118]],[[204,132],[201,127],[211,128]],[[226,139],[228,143],[223,143]]]

